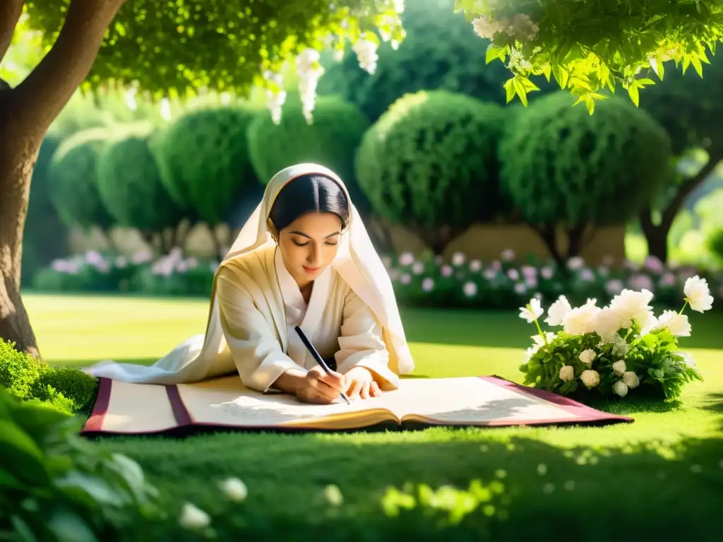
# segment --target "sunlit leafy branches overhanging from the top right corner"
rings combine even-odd
[[[487,62],[508,63],[507,99],[523,104],[544,74],[570,89],[590,114],[617,85],[638,105],[641,90],[660,80],[665,63],[703,75],[708,54],[723,39],[723,5],[716,0],[455,0],[482,38]],[[707,49],[707,51],[706,51]]]

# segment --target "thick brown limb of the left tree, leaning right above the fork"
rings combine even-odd
[[[12,91],[23,136],[42,138],[90,72],[108,25],[125,0],[72,0],[54,46]]]

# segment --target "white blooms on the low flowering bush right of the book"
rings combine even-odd
[[[690,306],[690,309],[698,312],[711,309],[713,296],[711,296],[705,279],[698,276],[688,278],[683,291],[685,292],[685,306]],[[620,377],[613,384],[612,390],[620,397],[625,397],[629,390],[638,387],[640,380],[635,371],[628,371],[625,366],[628,343],[619,335],[620,330],[630,330],[635,323],[639,327],[640,336],[665,328],[676,337],[690,336],[690,322],[688,322],[688,317],[683,314],[683,310],[680,312],[663,311],[660,317],[656,317],[650,306],[652,299],[653,293],[646,289],[642,291],[623,290],[610,301],[608,306],[599,307],[595,299],[588,299],[583,306],[573,308],[565,296],[560,296],[547,309],[547,318],[544,322],[552,327],[562,327],[567,335],[596,333],[602,339],[600,346],[612,344],[612,353],[620,358],[612,364],[615,375]],[[532,337],[535,344],[528,348],[528,358],[534,356],[537,350],[555,340],[556,337],[555,333],[542,332],[538,323],[542,314],[544,314],[544,309],[537,298],[532,298],[529,304],[520,308],[520,317],[529,323],[534,322],[539,330],[539,335]],[[688,366],[695,367],[693,358],[687,354],[681,354],[681,356]],[[578,355],[579,360],[588,367],[580,375],[581,382],[588,389],[596,387],[600,383],[599,372],[592,369],[592,362],[596,357],[597,353],[592,348],[583,350]],[[573,380],[575,378],[574,367],[562,366],[559,376],[563,382]]]

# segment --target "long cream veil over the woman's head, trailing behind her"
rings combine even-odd
[[[228,350],[221,329],[218,297],[215,291],[218,271],[234,259],[242,258],[249,252],[273,244],[268,220],[276,197],[288,182],[305,175],[322,175],[331,178],[346,194],[349,205],[348,224],[341,236],[338,254],[331,267],[361,298],[361,301],[372,309],[382,324],[385,342],[390,350],[390,370],[396,374],[411,373],[414,370],[414,360],[406,342],[389,274],[372,245],[367,229],[364,228],[364,223],[359,218],[359,212],[351,202],[346,185],[330,169],[312,163],[292,165],[276,173],[269,181],[263,199],[252,212],[244,227],[241,228],[234,244],[231,245],[231,249],[214,275],[208,323],[204,335],[189,338],[152,366],[101,361],[85,371],[95,377],[106,377],[124,382],[179,384],[218,376],[223,374],[226,369],[231,368],[233,364],[229,363],[230,360],[221,359],[221,355]]]

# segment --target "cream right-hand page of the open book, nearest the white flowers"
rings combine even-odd
[[[398,390],[380,398],[398,418],[439,423],[489,423],[575,419],[549,403],[477,377],[403,379]]]

